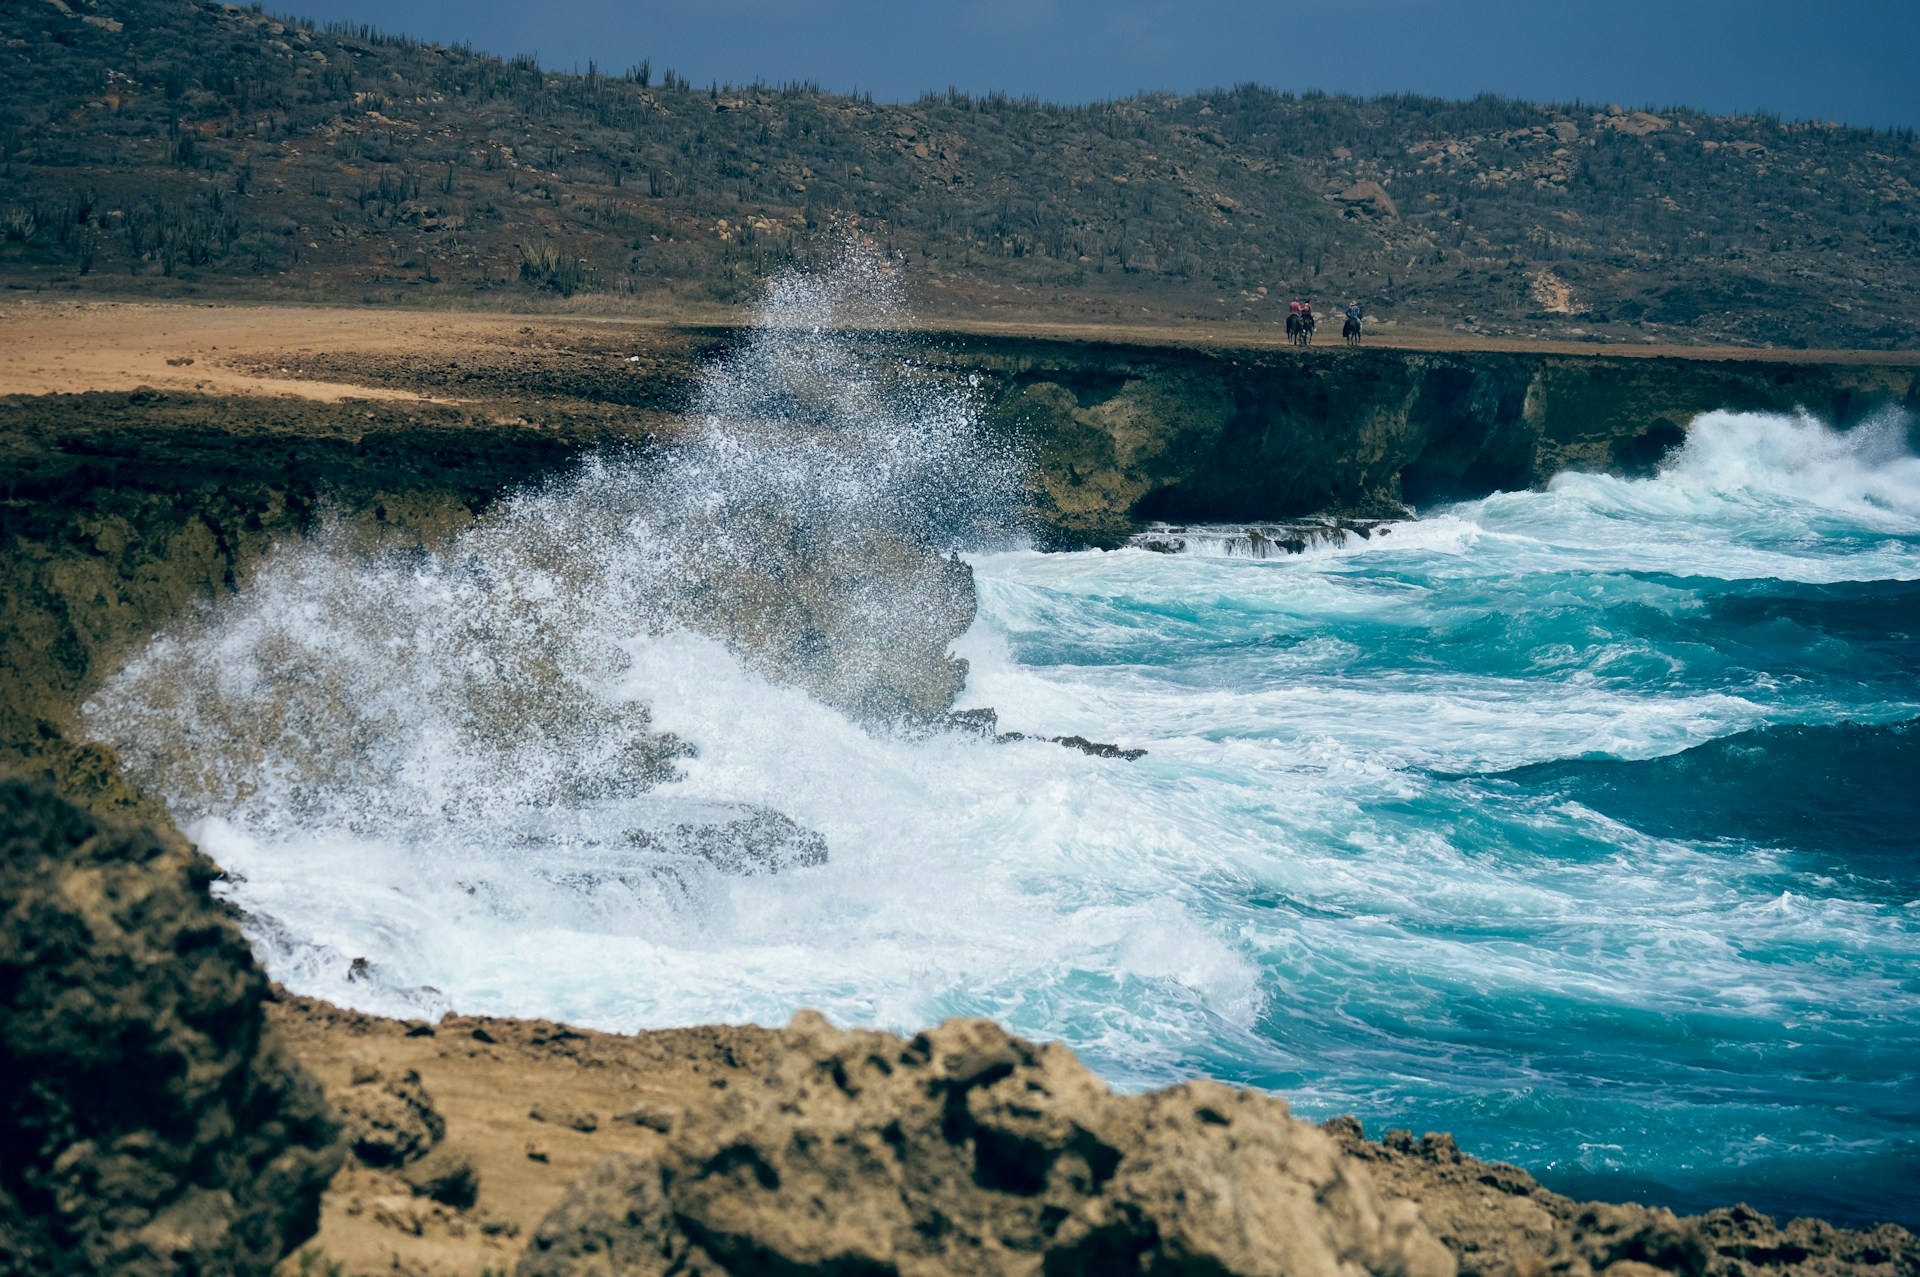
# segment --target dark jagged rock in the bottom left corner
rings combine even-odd
[[[0,782],[0,1273],[267,1273],[342,1144],[194,851]]]

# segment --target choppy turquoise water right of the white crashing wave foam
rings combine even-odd
[[[1192,1066],[1569,1193],[1920,1221],[1903,421],[1711,415],[1657,478],[1348,549],[983,574],[995,678],[1206,810],[1183,895],[1258,1004]]]

